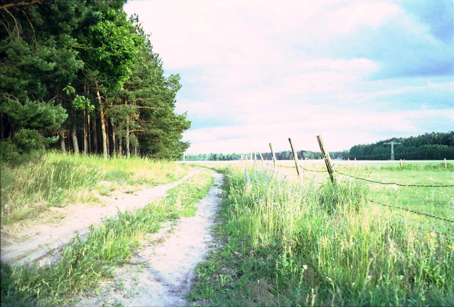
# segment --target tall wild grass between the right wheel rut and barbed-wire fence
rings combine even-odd
[[[228,168],[224,246],[188,298],[213,306],[452,306],[454,236],[365,199],[358,181],[301,187],[272,171]],[[410,193],[410,192],[409,192]],[[446,206],[449,206],[445,204]],[[399,212],[401,213],[401,212]]]

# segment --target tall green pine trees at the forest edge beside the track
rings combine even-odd
[[[179,159],[190,122],[126,0],[0,2],[2,156],[39,148]]]

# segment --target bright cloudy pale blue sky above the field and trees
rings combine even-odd
[[[187,154],[454,130],[452,0],[129,0],[179,74]]]

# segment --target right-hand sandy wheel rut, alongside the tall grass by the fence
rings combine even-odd
[[[213,171],[215,184],[197,206],[196,215],[167,224],[142,240],[142,249],[131,263],[115,271],[105,282],[83,297],[77,306],[182,306],[195,277],[195,268],[215,247],[210,234],[221,202],[223,176]]]

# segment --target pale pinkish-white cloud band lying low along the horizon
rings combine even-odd
[[[415,121],[434,119],[454,124],[454,111],[423,110],[400,112],[357,112],[336,110],[337,115],[320,113],[299,121],[244,124],[199,128],[185,133],[193,146],[188,153],[268,151],[271,141],[276,151],[288,150],[291,137],[298,150],[318,149],[316,136],[322,135],[330,150],[349,149],[357,143],[375,142],[395,136],[410,136],[419,127]],[[363,129],[358,127],[365,127]],[[216,149],[216,150],[214,150]]]

